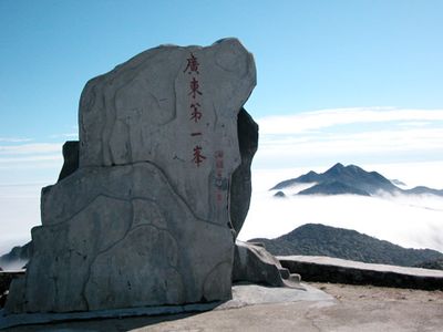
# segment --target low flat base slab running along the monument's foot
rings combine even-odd
[[[289,302],[321,302],[334,304],[333,297],[308,284],[301,284],[303,290],[291,288],[271,288],[257,284],[237,284],[233,287],[233,299],[229,301],[215,301],[186,305],[140,307],[115,310],[95,310],[87,312],[69,313],[20,313],[6,314],[0,310],[0,330],[11,326],[43,324],[62,321],[169,315],[177,313],[197,313],[208,310],[237,309],[247,305],[289,303]]]

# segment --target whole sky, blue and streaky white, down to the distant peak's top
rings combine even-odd
[[[86,81],[164,43],[237,37],[254,53],[255,168],[427,172],[411,165],[443,163],[442,13],[440,0],[0,0],[0,224],[39,222]]]

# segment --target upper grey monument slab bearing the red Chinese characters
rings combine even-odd
[[[235,39],[141,53],[86,84],[80,167],[151,160],[197,217],[222,221],[241,162],[237,115],[255,84],[254,59]],[[196,153],[206,158],[198,167]]]

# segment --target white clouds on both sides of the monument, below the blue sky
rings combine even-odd
[[[318,222],[404,247],[443,251],[442,198],[289,195],[275,199],[268,190],[281,180],[309,170],[321,173],[336,163],[377,170],[409,187],[443,189],[443,110],[336,108],[256,121],[259,148],[240,239],[274,238]],[[30,229],[41,224],[40,190],[56,181],[68,138],[76,134],[55,135],[48,142],[0,137],[0,255],[29,241]]]

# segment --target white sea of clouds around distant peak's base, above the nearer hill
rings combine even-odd
[[[415,164],[415,170],[439,176],[443,163]],[[332,166],[332,165],[331,165]],[[384,165],[401,172],[401,165]],[[442,168],[440,168],[442,169]],[[436,196],[290,196],[274,198],[268,191],[278,181],[297,177],[308,169],[255,170],[254,191],[247,220],[239,235],[243,240],[275,238],[305,224],[323,224],[354,229],[406,248],[431,248],[443,252],[443,198]],[[324,172],[326,169],[315,169]],[[380,169],[375,169],[380,170]],[[412,177],[414,169],[410,169]],[[403,169],[405,181],[410,180]],[[302,188],[299,188],[302,189]],[[287,193],[291,194],[291,193]]]

